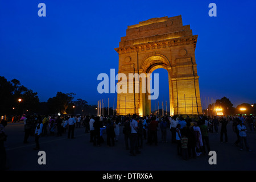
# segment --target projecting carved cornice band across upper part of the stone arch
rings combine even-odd
[[[192,36],[184,36],[181,38],[159,40],[154,42],[146,42],[146,43],[134,44],[130,46],[118,47],[118,48],[115,48],[115,51],[117,51],[118,54],[120,55],[124,53],[152,51],[152,50],[161,49],[161,48],[185,46],[189,44],[193,44],[194,49],[196,49],[196,42],[197,42],[197,35],[192,35]]]

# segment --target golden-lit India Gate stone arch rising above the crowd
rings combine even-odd
[[[197,35],[192,34],[189,25],[183,26],[181,15],[152,18],[128,26],[126,36],[115,48],[119,55],[118,74],[124,73],[127,78],[129,73],[148,76],[155,69],[164,68],[168,72],[170,115],[202,114],[196,42]],[[117,114],[151,114],[150,93],[142,92],[145,86],[142,80],[134,81],[136,84],[139,93],[118,92]]]

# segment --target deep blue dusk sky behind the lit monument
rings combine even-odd
[[[46,17],[38,4],[46,4]],[[217,17],[210,17],[209,3]],[[181,15],[190,24],[196,45],[200,94],[228,97],[237,106],[256,102],[256,1],[0,1],[0,76],[18,79],[38,92],[40,101],[58,91],[97,104],[117,94],[99,94],[100,73],[118,72],[118,53],[127,26],[143,20]],[[159,106],[168,98],[168,76],[159,73]],[[152,102],[152,103],[155,103]],[[116,103],[115,103],[116,106]],[[160,106],[162,107],[162,106]],[[152,104],[151,109],[155,109]]]

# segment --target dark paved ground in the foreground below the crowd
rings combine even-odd
[[[7,166],[9,171],[255,171],[256,169],[256,132],[248,131],[247,138],[253,152],[240,151],[233,143],[236,134],[228,125],[228,143],[220,143],[220,134],[210,133],[211,150],[217,152],[217,164],[210,165],[210,156],[201,155],[196,159],[182,160],[176,155],[176,144],[172,144],[171,132],[167,131],[168,143],[160,143],[158,132],[158,146],[149,146],[144,140],[141,154],[130,156],[125,150],[123,134],[114,147],[93,146],[89,142],[89,134],[85,129],[75,129],[75,139],[68,139],[67,133],[63,137],[41,137],[41,149],[46,152],[46,165],[38,164],[38,151],[34,137],[28,138],[28,144],[23,144],[23,124],[9,123],[6,127],[8,139],[5,143],[7,152]],[[104,134],[106,141],[106,134]]]

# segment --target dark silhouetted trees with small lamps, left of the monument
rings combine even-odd
[[[97,105],[88,105],[81,98],[73,101],[75,93],[57,92],[47,102],[40,102],[38,93],[20,84],[19,80],[7,81],[0,76],[0,114],[97,114]]]

